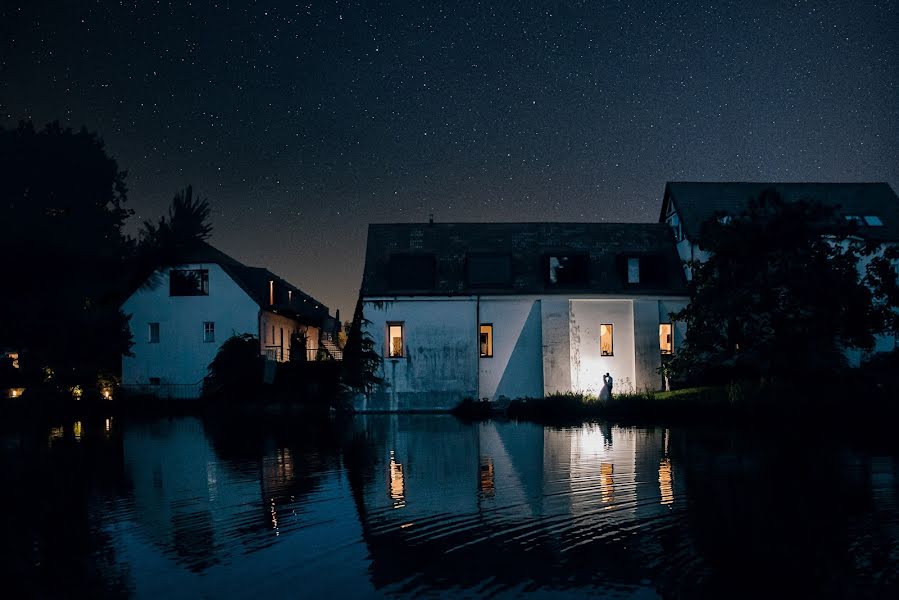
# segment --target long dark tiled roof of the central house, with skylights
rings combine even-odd
[[[362,295],[681,295],[674,243],[663,223],[373,224]],[[550,259],[565,256],[579,257],[570,264],[583,277],[559,285],[549,277]],[[628,283],[628,258],[640,259],[639,284]]]

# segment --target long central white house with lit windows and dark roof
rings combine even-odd
[[[367,332],[387,382],[357,408],[656,390],[686,280],[664,223],[370,225]]]

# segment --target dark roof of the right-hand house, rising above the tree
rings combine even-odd
[[[697,240],[702,224],[716,213],[738,215],[750,200],[768,189],[787,202],[808,200],[833,206],[842,216],[876,216],[883,225],[861,225],[859,235],[875,241],[899,241],[899,198],[887,183],[716,183],[670,181],[659,221],[664,222],[673,203],[684,234]]]

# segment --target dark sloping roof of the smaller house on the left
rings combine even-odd
[[[328,317],[328,307],[288,283],[268,269],[250,267],[218,248],[199,242],[178,253],[179,264],[212,263],[219,265],[261,308],[301,320],[318,321]],[[269,304],[269,282],[274,281],[274,304]],[[291,292],[288,294],[288,291]]]

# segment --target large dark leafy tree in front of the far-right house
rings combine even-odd
[[[673,315],[687,339],[671,369],[803,378],[844,367],[847,348],[872,348],[890,311],[860,268],[876,248],[854,231],[833,208],[787,203],[774,191],[739,216],[710,219],[701,232],[710,257],[689,263],[691,302]]]

